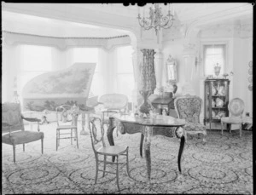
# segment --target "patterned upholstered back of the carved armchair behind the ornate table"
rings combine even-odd
[[[190,123],[200,123],[202,100],[196,95],[184,95],[174,100],[178,118],[183,118]]]

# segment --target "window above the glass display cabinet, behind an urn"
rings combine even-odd
[[[225,44],[204,45],[204,72],[205,76],[214,75],[214,66],[218,63],[221,67],[220,75],[224,72],[226,63]]]

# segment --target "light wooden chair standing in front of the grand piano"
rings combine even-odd
[[[57,106],[55,108],[55,111],[56,111],[56,118],[57,118],[56,151],[58,150],[58,146],[60,146],[61,139],[70,139],[71,144],[73,144],[73,140],[77,141],[77,146],[79,148],[79,137],[78,137],[79,107],[70,106],[70,105],[61,105],[61,106]],[[73,131],[74,131],[74,135],[73,135]],[[65,136],[62,136],[62,135],[65,135]]]

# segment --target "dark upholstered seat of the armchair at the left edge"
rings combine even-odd
[[[25,144],[32,141],[38,141],[44,138],[43,132],[18,131],[2,136],[2,142],[9,145]]]

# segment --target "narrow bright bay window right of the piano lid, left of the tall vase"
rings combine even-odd
[[[117,49],[117,90],[131,100],[132,89],[134,89],[132,48],[131,46],[119,47]]]

